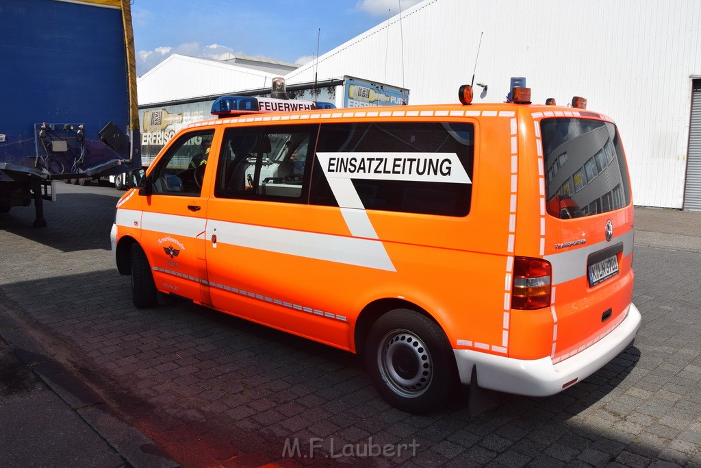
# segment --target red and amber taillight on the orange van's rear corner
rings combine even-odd
[[[514,286],[511,308],[521,310],[550,307],[552,267],[540,258],[514,259]]]

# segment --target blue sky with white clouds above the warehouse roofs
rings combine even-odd
[[[304,63],[421,0],[133,0],[137,74],[172,53]],[[319,34],[319,29],[321,29]]]

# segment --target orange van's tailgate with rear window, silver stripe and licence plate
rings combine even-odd
[[[633,207],[620,135],[598,114],[569,114],[539,123],[555,362],[618,326],[633,290]]]

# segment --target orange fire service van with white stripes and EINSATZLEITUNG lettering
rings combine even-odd
[[[176,295],[363,353],[415,413],[457,382],[547,396],[583,380],[641,320],[627,163],[608,116],[512,91],[364,109],[219,98],[117,204],[135,305]]]

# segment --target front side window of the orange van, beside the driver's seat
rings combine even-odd
[[[214,131],[182,135],[152,173],[154,194],[199,196]]]

